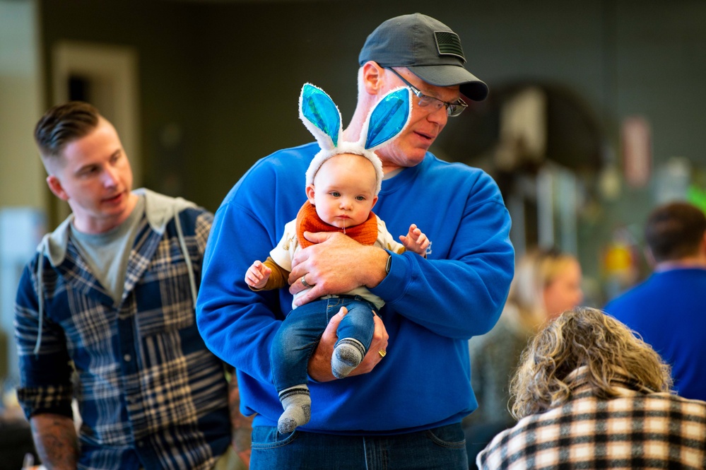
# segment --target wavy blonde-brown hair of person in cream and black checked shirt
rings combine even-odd
[[[584,385],[599,398],[618,396],[616,382],[643,392],[671,392],[671,370],[624,324],[601,310],[577,307],[550,322],[522,352],[510,382],[512,416],[561,406]]]

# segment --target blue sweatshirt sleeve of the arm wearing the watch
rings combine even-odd
[[[490,331],[505,304],[514,273],[510,214],[485,172],[464,180],[434,177],[446,187],[424,182],[428,194],[439,196],[413,213],[433,244],[429,259],[392,254],[389,274],[371,291],[441,336],[468,339]],[[454,196],[461,191],[463,200]]]

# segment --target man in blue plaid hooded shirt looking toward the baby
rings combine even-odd
[[[16,301],[18,399],[42,462],[225,468],[228,381],[194,317],[213,215],[132,192],[117,132],[86,103],[47,111],[35,140],[49,189],[73,212],[40,243]]]

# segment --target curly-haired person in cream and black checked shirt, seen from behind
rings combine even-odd
[[[669,393],[669,365],[599,310],[565,312],[522,355],[514,428],[481,469],[705,469],[706,402]]]

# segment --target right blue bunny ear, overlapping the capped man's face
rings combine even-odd
[[[366,149],[381,146],[404,129],[411,114],[410,94],[408,88],[396,88],[375,105],[367,118]]]

